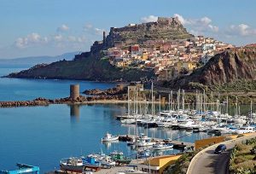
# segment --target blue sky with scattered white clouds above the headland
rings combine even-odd
[[[1,0],[0,59],[88,51],[111,26],[177,16],[194,35],[256,43],[253,0]]]

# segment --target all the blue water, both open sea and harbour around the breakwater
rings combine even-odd
[[[0,68],[0,76],[22,68]],[[80,92],[106,89],[114,83],[73,80],[0,78],[0,101],[50,99],[69,95],[69,85],[80,84]],[[133,134],[134,126],[121,125],[115,116],[126,113],[125,104],[50,105],[48,107],[0,108],[0,170],[15,168],[16,163],[38,165],[41,172],[58,169],[62,158],[122,150],[133,156],[135,151],[125,142],[102,144],[107,132],[114,135]],[[163,108],[162,108],[163,109]],[[206,134],[151,128],[141,133],[148,136],[195,142]],[[176,154],[173,149],[166,153]]]

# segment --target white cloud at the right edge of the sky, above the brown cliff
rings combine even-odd
[[[230,35],[256,36],[256,29],[247,24],[232,25],[228,31]]]

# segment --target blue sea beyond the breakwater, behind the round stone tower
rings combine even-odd
[[[0,68],[0,76],[20,70],[22,68]],[[77,80],[0,78],[0,101],[33,100],[38,96],[49,99],[67,97],[69,96],[69,85],[77,83],[80,84],[80,92],[115,86],[114,83]]]

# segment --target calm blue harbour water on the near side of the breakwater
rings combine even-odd
[[[74,115],[75,113],[76,115]],[[106,131],[113,134],[134,132],[121,125],[115,115],[125,113],[122,105],[50,105],[49,107],[16,107],[0,109],[0,168],[11,169],[16,162],[39,165],[42,171],[58,167],[61,158],[102,151],[123,150],[134,154],[125,142],[102,144]],[[139,132],[145,132],[139,128]],[[145,132],[146,133],[146,132]],[[148,129],[148,136],[175,139],[186,135],[185,131]],[[191,134],[182,141],[194,142],[207,137]],[[172,150],[170,154],[177,153]]]

